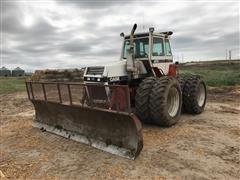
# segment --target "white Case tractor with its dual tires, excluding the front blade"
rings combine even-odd
[[[206,85],[198,76],[176,77],[170,46],[173,33],[149,28],[149,32],[134,34],[136,28],[135,24],[130,35],[120,34],[124,38],[120,61],[87,67],[84,83],[127,85],[131,105],[144,123],[171,126],[178,121],[182,109],[201,113],[206,102]],[[88,96],[94,93],[87,90]]]

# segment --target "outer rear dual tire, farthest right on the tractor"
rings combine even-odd
[[[205,108],[207,88],[205,82],[197,76],[189,77],[183,88],[183,107],[189,114],[200,114]]]

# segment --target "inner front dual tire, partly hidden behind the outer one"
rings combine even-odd
[[[137,88],[135,97],[136,114],[143,123],[151,123],[149,94],[156,80],[156,77],[148,77],[144,79]]]

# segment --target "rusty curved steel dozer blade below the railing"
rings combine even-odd
[[[129,159],[142,150],[142,126],[133,113],[31,101],[35,127]]]

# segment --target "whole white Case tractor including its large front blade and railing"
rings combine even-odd
[[[182,111],[199,114],[206,85],[198,76],[177,77],[169,37],[149,32],[123,37],[121,60],[86,67],[84,83],[26,82],[35,107],[34,127],[135,159],[143,123],[169,127]]]

